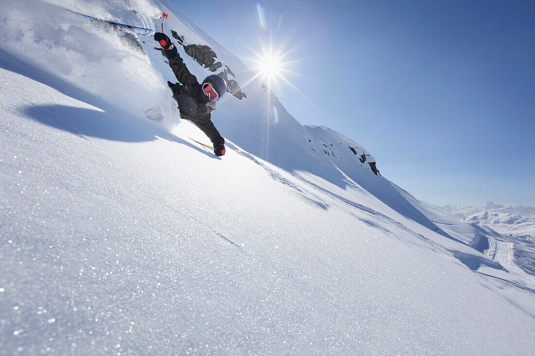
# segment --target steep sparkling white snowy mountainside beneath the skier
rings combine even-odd
[[[6,354],[535,352],[529,256],[300,125],[169,3],[0,4]],[[166,11],[209,45],[247,94],[213,113],[225,157],[190,140],[207,139],[177,119],[151,38],[141,51],[65,8],[149,27]]]

